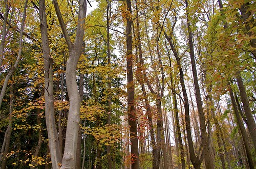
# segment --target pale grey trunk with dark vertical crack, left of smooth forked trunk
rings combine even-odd
[[[54,118],[54,103],[53,103],[53,59],[50,55],[49,39],[47,31],[47,20],[45,12],[45,1],[39,1],[39,17],[40,31],[42,38],[42,52],[45,65],[45,113],[46,126],[49,139],[49,149],[53,168],[59,168],[61,163],[61,154],[59,151],[58,133]]]

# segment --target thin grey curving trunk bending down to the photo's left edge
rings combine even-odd
[[[18,47],[18,55],[17,55],[17,59],[14,63],[14,65],[10,68],[10,70],[8,71],[6,77],[5,77],[5,81],[4,81],[4,84],[3,84],[3,88],[1,90],[1,93],[0,93],[0,108],[2,106],[2,102],[3,102],[3,99],[4,99],[4,96],[5,96],[5,92],[6,92],[6,89],[7,89],[7,86],[8,86],[8,82],[12,76],[12,74],[15,72],[15,70],[17,69],[18,67],[18,64],[19,64],[19,61],[21,60],[22,58],[22,38],[23,38],[23,31],[24,31],[24,25],[25,25],[25,20],[26,20],[26,11],[27,11],[27,5],[28,5],[28,0],[25,1],[25,4],[24,4],[24,11],[23,11],[23,18],[22,18],[22,25],[20,27],[20,34],[19,34],[19,47]],[[2,42],[1,42],[2,43]],[[3,45],[4,47],[4,45]],[[2,47],[1,47],[2,48]],[[1,53],[0,53],[1,54]],[[0,56],[1,57],[1,56]],[[2,56],[3,57],[3,56]],[[3,58],[0,58],[1,61],[3,61]],[[1,65],[0,65],[1,66]]]

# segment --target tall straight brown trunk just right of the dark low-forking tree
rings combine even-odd
[[[195,85],[195,91],[196,91],[197,109],[199,112],[201,143],[202,143],[202,147],[203,147],[202,154],[204,156],[205,167],[210,169],[210,168],[213,168],[214,165],[212,163],[212,160],[210,159],[210,153],[209,153],[209,147],[208,147],[209,143],[207,140],[205,116],[204,116],[201,92],[200,92],[200,87],[199,87],[198,77],[197,77],[194,45],[193,45],[192,31],[191,31],[191,25],[190,25],[190,20],[189,20],[189,11],[188,11],[189,6],[188,6],[187,0],[185,0],[185,4],[186,4],[186,15],[187,15],[189,53],[190,53],[191,67],[192,67],[192,71],[193,71],[193,79],[194,79],[194,85]]]

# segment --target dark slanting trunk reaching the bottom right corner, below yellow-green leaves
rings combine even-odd
[[[234,99],[234,95],[233,95],[233,91],[232,91],[231,87],[229,88],[229,95],[230,95],[230,98],[231,98],[234,113],[236,115],[237,123],[238,123],[239,129],[240,129],[240,132],[241,132],[241,135],[242,135],[242,138],[243,138],[243,143],[244,143],[244,146],[245,146],[249,167],[254,168],[254,164],[253,164],[253,160],[252,160],[252,156],[251,156],[251,152],[250,152],[250,145],[249,145],[249,142],[248,142],[248,137],[246,135],[246,130],[244,128],[244,124],[243,124],[243,122],[240,118],[239,111],[238,111],[237,104],[236,104],[236,100]]]

